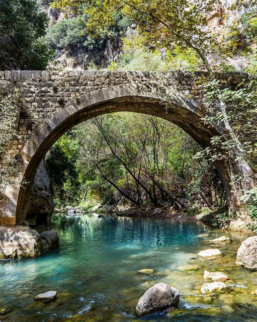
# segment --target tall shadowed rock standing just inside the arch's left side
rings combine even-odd
[[[50,179],[42,161],[38,167],[27,201],[26,219],[30,226],[49,226],[54,210]]]

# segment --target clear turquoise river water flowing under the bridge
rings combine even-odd
[[[210,261],[197,259],[197,253],[214,247],[208,240],[224,232],[196,222],[56,215],[53,228],[59,249],[35,259],[0,261],[0,312],[10,310],[0,321],[256,321],[257,297],[249,294],[257,288],[257,273],[234,265],[242,235],[216,245],[223,257]],[[155,273],[137,273],[145,268]],[[204,269],[222,270],[237,287],[202,296]],[[179,309],[136,317],[138,298],[158,282],[180,290]],[[34,301],[48,290],[57,291],[54,302]]]

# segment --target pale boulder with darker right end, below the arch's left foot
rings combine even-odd
[[[0,258],[36,257],[58,245],[56,231],[39,234],[28,226],[0,226]]]

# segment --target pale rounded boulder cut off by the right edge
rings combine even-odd
[[[257,236],[245,239],[237,251],[236,264],[257,271]]]

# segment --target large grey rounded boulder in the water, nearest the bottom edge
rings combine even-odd
[[[180,292],[177,288],[158,283],[140,297],[136,306],[136,314],[142,316],[167,307],[178,307],[179,300]]]

